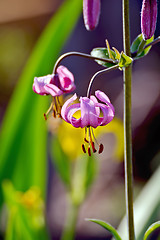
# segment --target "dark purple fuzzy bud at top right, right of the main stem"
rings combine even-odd
[[[143,0],[141,11],[141,30],[144,40],[150,39],[157,22],[157,0]]]

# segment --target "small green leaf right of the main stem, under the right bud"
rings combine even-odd
[[[154,40],[154,36],[151,37],[150,39],[148,39],[146,41],[146,44],[149,44],[151,43],[152,41]],[[131,45],[131,53],[134,54],[135,52],[137,52],[139,50],[139,46],[141,45],[141,43],[143,42],[143,37],[142,37],[142,34],[138,35],[136,37],[136,39],[133,41],[132,45]],[[149,53],[151,49],[151,46],[150,47],[147,47],[145,48],[142,52],[140,52],[136,57],[135,59],[138,59],[138,58],[141,58],[141,57],[144,57],[145,55],[147,55]]]

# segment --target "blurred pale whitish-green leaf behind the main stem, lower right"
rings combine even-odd
[[[160,154],[159,154],[160,157]],[[134,222],[136,239],[142,240],[147,227],[155,220],[160,206],[160,166],[146,183],[134,202]],[[124,240],[128,239],[126,216],[122,219],[118,231]]]

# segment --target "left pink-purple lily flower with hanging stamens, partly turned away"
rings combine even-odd
[[[49,74],[43,77],[35,77],[33,83],[33,91],[40,95],[51,95],[53,102],[47,113],[44,114],[47,119],[47,114],[53,110],[53,115],[56,117],[60,115],[61,105],[58,99],[64,93],[70,93],[75,89],[74,76],[64,66],[59,66],[55,74]]]

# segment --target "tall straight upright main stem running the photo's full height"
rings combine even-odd
[[[122,0],[123,9],[123,47],[126,55],[130,56],[130,25],[129,0]],[[132,66],[124,68],[124,162],[125,162],[125,193],[126,214],[128,221],[129,240],[134,240],[133,214],[133,172],[132,172],[132,133],[131,133],[131,80]]]

